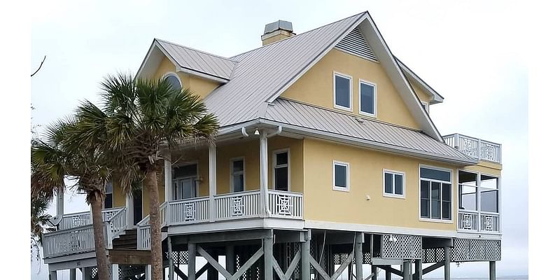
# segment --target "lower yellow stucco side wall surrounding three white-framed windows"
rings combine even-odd
[[[332,190],[332,161],[349,163],[349,192]],[[311,221],[456,230],[456,169],[452,223],[419,221],[419,165],[449,165],[327,141],[304,139],[304,218]],[[405,172],[405,199],[383,196],[383,169]],[[370,200],[366,200],[366,196]]]

